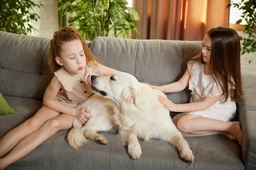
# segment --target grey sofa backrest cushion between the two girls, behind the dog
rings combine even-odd
[[[186,63],[201,50],[201,41],[127,40],[100,37],[90,48],[100,61],[139,81],[163,85],[177,81],[186,71]],[[188,90],[167,94],[175,103],[189,101]]]

